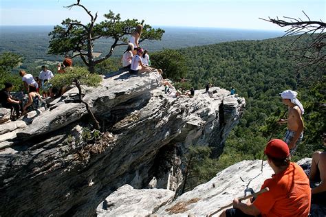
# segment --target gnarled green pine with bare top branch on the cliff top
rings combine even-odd
[[[139,22],[137,19],[127,19],[121,21],[120,14],[104,14],[105,21],[96,23],[98,14],[91,12],[79,3],[74,3],[65,8],[80,7],[89,15],[90,22],[83,24],[80,21],[65,19],[61,25],[56,25],[54,30],[50,32],[49,54],[64,55],[69,58],[79,56],[91,73],[95,71],[95,65],[107,60],[112,54],[115,47],[127,45],[127,36],[133,32],[138,24],[143,25],[143,32],[140,42],[144,40],[160,40],[164,34],[164,30],[158,28],[153,29],[150,25]],[[93,54],[94,43],[100,38],[112,38],[113,43],[105,56],[95,58]]]

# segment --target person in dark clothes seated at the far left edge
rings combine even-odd
[[[6,109],[14,109],[16,111],[16,117],[19,117],[21,115],[19,106],[20,102],[19,100],[12,99],[10,95],[10,91],[12,90],[12,84],[6,82],[5,88],[0,91],[0,101],[3,108]]]

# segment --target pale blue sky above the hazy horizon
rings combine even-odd
[[[0,25],[58,25],[64,19],[88,23],[81,8],[63,6],[76,0],[0,0]],[[154,27],[224,27],[248,30],[283,30],[263,21],[283,16],[326,22],[325,0],[80,0],[98,21],[112,10],[124,19],[144,19]],[[305,14],[303,14],[303,12]]]

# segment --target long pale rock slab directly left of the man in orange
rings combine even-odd
[[[219,172],[208,183],[182,194],[173,203],[160,207],[155,215],[206,216],[232,203],[233,198],[250,195],[252,190],[259,191],[263,181],[273,173],[267,161],[263,163],[263,172],[261,161],[241,161]],[[219,214],[221,212],[215,216]]]

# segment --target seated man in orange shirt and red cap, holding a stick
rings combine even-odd
[[[308,216],[311,192],[307,175],[296,163],[290,162],[290,150],[281,139],[272,139],[264,154],[275,174],[266,179],[261,189],[269,191],[259,194],[252,202],[241,203],[237,198],[233,208],[226,209],[221,216]]]

